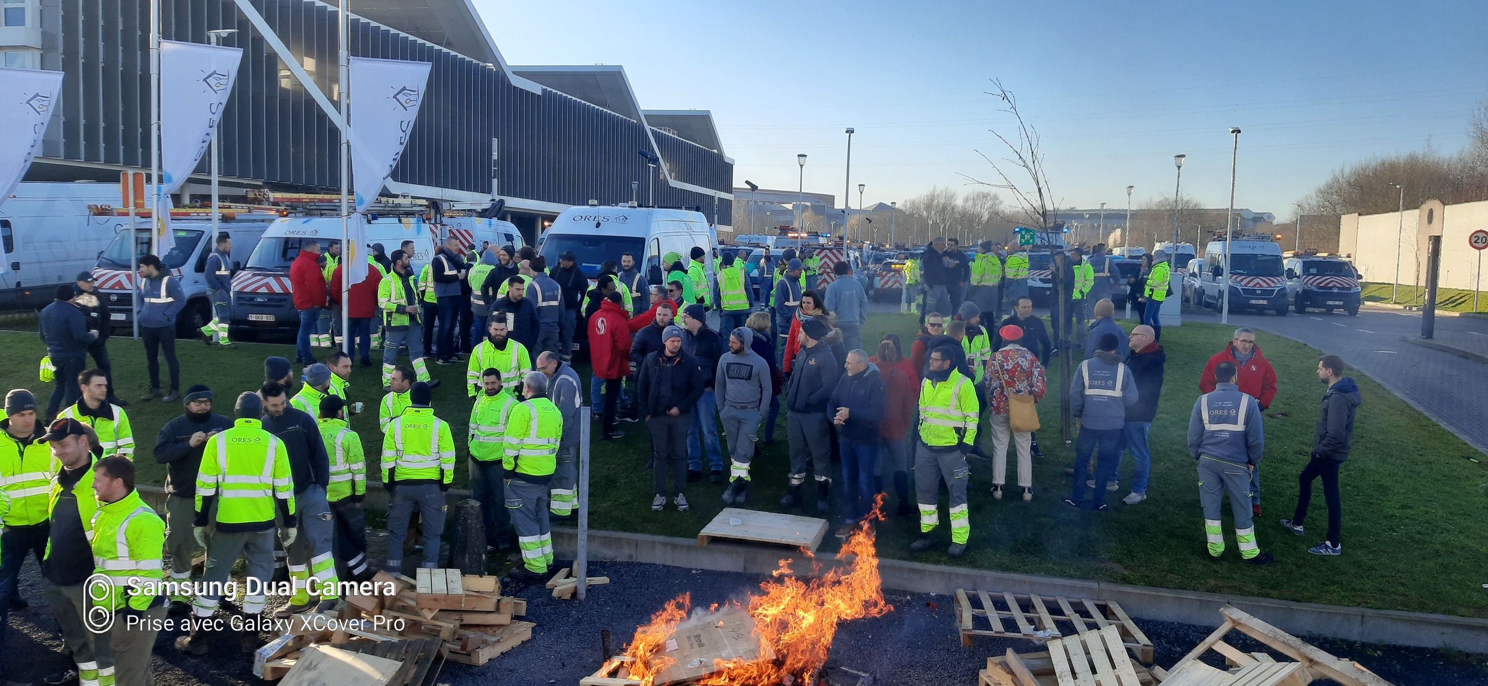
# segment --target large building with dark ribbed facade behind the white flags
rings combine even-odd
[[[6,0],[9,1],[9,0]],[[19,34],[65,73],[43,156],[28,180],[97,179],[149,168],[147,0],[22,0]],[[272,28],[335,100],[336,7],[317,0],[161,0],[162,37],[244,49],[219,129],[225,195],[269,187],[339,189],[335,124],[254,28]],[[7,4],[9,7],[9,4]],[[31,36],[39,36],[33,40]],[[7,48],[9,49],[9,48]],[[356,0],[350,51],[433,64],[424,104],[388,190],[449,201],[506,201],[536,238],[543,219],[595,201],[695,207],[729,231],[734,161],[705,110],[643,110],[620,67],[512,67],[469,0]],[[30,55],[30,52],[28,52]],[[643,150],[656,162],[649,167]],[[205,198],[207,161],[183,187]]]

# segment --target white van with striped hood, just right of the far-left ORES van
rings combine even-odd
[[[179,219],[189,210],[171,213],[171,232],[176,247],[159,254],[161,262],[170,268],[171,274],[186,295],[186,307],[176,315],[177,338],[198,338],[201,327],[211,321],[211,290],[207,289],[207,256],[217,246],[217,238],[211,234],[210,219]],[[272,213],[229,213],[223,211],[223,219],[217,222],[217,231],[232,237],[232,260],[237,268],[268,229],[269,222],[277,219]],[[113,235],[109,247],[98,254],[94,266],[98,299],[109,307],[109,318],[115,329],[128,327],[134,323],[134,272],[129,271],[129,250],[132,244],[134,257],[150,251],[149,219],[138,220],[131,238],[129,231],[122,231],[128,217],[122,220],[121,231]]]

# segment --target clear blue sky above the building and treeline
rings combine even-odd
[[[1488,3],[473,0],[510,64],[622,64],[646,109],[708,109],[735,185],[905,199],[988,179],[1012,131],[1001,79],[1043,137],[1061,207],[1183,189],[1278,217],[1338,167],[1457,150],[1488,98]],[[1006,193],[1004,193],[1006,199]],[[841,199],[839,199],[841,204]]]

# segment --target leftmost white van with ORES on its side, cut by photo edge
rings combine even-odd
[[[0,204],[0,310],[39,308],[57,286],[70,284],[94,266],[98,251],[124,229],[128,217],[100,210],[119,204],[110,183],[25,182]],[[92,208],[89,208],[92,205]]]

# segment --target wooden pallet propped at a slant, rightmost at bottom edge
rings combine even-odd
[[[1314,679],[1332,679],[1344,686],[1391,686],[1390,682],[1379,679],[1378,674],[1359,662],[1335,658],[1329,652],[1235,607],[1225,606],[1220,609],[1220,615],[1225,616],[1225,624],[1219,625],[1193,650],[1189,650],[1173,668],[1152,670],[1164,686],[1305,686]],[[1232,629],[1240,629],[1296,662],[1278,665],[1266,653],[1241,652],[1223,640]],[[1199,662],[1198,658],[1207,650],[1223,655],[1225,662],[1234,670],[1216,670]]]

